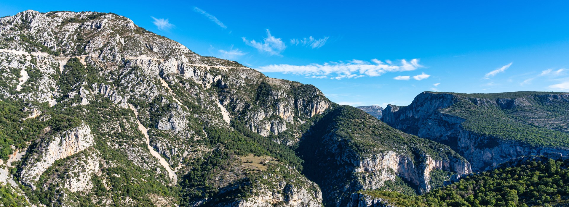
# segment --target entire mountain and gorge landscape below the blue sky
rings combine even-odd
[[[0,202],[569,200],[567,93],[423,92],[408,106],[358,108],[314,85],[200,56],[125,16],[19,12],[0,18]]]

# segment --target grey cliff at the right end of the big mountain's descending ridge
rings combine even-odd
[[[246,126],[261,136],[278,136],[286,130],[294,134],[295,138],[276,139],[279,143],[293,145],[298,142],[298,137],[302,134],[299,125],[322,114],[332,105],[312,85],[268,78],[256,71],[243,72],[245,71],[226,73],[222,78],[224,88],[220,94],[220,103],[230,113],[241,116]],[[238,78],[241,81],[237,81]],[[243,91],[252,93],[244,94]]]

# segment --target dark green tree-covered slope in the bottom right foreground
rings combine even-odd
[[[360,191],[352,206],[563,206],[569,199],[569,160],[523,157],[422,196]],[[362,205],[363,204],[363,205]]]

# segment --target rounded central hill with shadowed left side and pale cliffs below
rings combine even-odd
[[[360,189],[413,195],[442,186],[438,179],[471,172],[448,146],[393,129],[349,106],[327,112],[299,144],[304,173],[320,185],[330,206],[347,205]]]

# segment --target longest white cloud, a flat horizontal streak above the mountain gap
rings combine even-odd
[[[410,71],[415,70],[422,65],[419,65],[418,59],[411,61],[401,60],[401,64],[386,64],[377,59],[373,59],[374,64],[361,61],[352,60],[348,62],[326,62],[324,64],[309,64],[309,65],[267,65],[259,67],[258,70],[265,73],[284,73],[294,75],[304,75],[307,78],[328,78],[334,79],[342,78],[360,78],[360,77],[376,77],[388,72]]]

